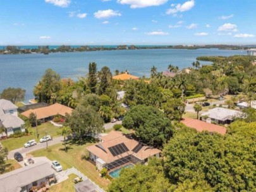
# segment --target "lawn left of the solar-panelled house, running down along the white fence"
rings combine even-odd
[[[32,152],[32,155],[34,157],[44,156],[50,160],[58,160],[64,170],[75,167],[101,188],[107,189],[110,181],[99,176],[99,172],[96,171],[95,165],[92,162],[82,159],[85,153],[85,147],[93,143],[92,140],[88,140],[86,143],[68,143],[68,152],[64,152],[63,143],[59,143],[49,147],[49,150],[42,149]]]

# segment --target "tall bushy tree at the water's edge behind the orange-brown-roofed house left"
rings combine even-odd
[[[61,90],[61,77],[52,69],[47,69],[34,87],[34,95],[39,102],[54,103]]]

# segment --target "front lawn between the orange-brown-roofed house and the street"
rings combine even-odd
[[[16,148],[23,147],[24,144],[29,140],[37,140],[39,142],[40,138],[44,135],[51,135],[52,137],[58,136],[58,131],[61,128],[53,126],[51,123],[42,123],[38,126],[39,138],[36,136],[36,128],[32,128],[34,134],[29,136],[22,136],[20,138],[8,138],[6,140],[2,140],[1,143],[4,147],[7,147],[9,151],[14,150]]]

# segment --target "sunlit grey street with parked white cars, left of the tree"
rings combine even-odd
[[[55,145],[57,143],[61,143],[62,141],[63,141],[63,136],[55,137],[55,138],[53,138],[53,140],[48,141],[48,146]],[[28,148],[25,148],[25,147],[17,148],[8,153],[8,159],[13,159],[14,158],[13,155],[15,152],[20,152],[21,154],[26,154],[26,153],[30,153],[30,152],[33,152],[35,150],[39,150],[42,148],[46,148],[46,142],[45,143],[37,143],[37,145],[28,147]]]

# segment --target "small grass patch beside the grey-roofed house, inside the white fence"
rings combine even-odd
[[[49,192],[75,191],[75,187],[74,187],[75,183],[73,183],[73,179],[75,179],[76,177],[77,176],[75,174],[71,174],[66,181],[63,181],[59,184],[52,186],[49,189]]]

